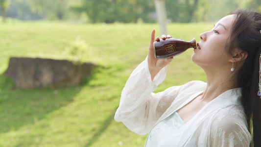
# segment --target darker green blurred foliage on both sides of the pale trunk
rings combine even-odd
[[[173,22],[188,23],[194,19],[198,0],[166,0],[167,17]],[[78,10],[87,13],[92,23],[154,22],[154,0],[84,0]],[[160,16],[159,16],[160,17]]]

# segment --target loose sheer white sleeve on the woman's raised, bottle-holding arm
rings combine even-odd
[[[121,92],[115,120],[125,124],[137,134],[147,134],[170,106],[180,86],[154,94],[155,88],[164,81],[167,68],[163,68],[151,81],[147,58],[131,73]]]

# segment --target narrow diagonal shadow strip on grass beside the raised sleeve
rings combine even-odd
[[[93,135],[92,139],[90,139],[84,147],[92,146],[93,143],[95,143],[97,141],[97,139],[102,135],[102,133],[107,129],[107,127],[112,123],[112,121],[114,121],[114,116],[115,116],[115,112],[116,112],[117,108],[115,108],[115,110],[111,112],[111,115],[106,118],[106,120],[101,124],[99,129]]]

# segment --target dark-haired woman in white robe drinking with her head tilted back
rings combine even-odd
[[[138,134],[149,133],[145,147],[260,146],[261,14],[236,10],[200,34],[191,59],[207,82],[191,81],[157,94],[152,92],[173,57],[156,59],[154,38],[155,30],[147,58],[122,90],[115,120]]]

